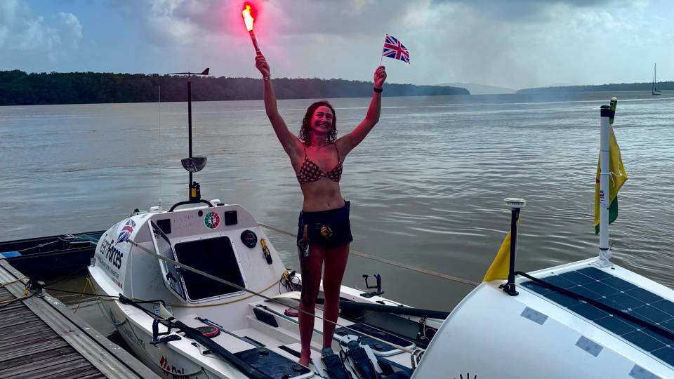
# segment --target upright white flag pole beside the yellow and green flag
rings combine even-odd
[[[617,101],[617,100],[616,100]],[[609,138],[610,138],[610,119],[614,118],[615,102],[612,101],[614,109],[608,105],[602,105],[600,108],[600,183],[599,183],[599,258],[593,262],[596,267],[609,267],[613,263],[611,250],[609,248],[609,205],[611,197],[609,193]]]

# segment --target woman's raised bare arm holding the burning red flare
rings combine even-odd
[[[267,117],[269,117],[269,121],[272,123],[272,128],[274,128],[276,136],[279,138],[279,141],[281,142],[283,149],[286,151],[286,154],[288,154],[291,158],[295,157],[298,154],[298,151],[301,149],[300,146],[302,145],[302,142],[300,142],[296,135],[289,131],[288,126],[286,126],[286,121],[283,121],[281,114],[279,114],[279,108],[276,104],[276,95],[274,93],[274,88],[272,87],[271,71],[264,55],[256,56],[255,67],[257,67],[263,77],[263,94]]]

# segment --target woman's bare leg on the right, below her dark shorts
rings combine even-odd
[[[323,274],[323,293],[325,306],[323,308],[323,347],[332,347],[332,336],[335,333],[335,324],[339,314],[339,289],[342,285],[346,261],[349,258],[349,244],[326,250]]]

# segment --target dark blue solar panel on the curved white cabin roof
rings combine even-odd
[[[595,267],[564,272],[564,274],[541,278],[541,280],[596,300],[616,310],[627,312],[637,319],[674,333],[674,302]],[[526,281],[522,283],[522,286],[612,331],[654,357],[674,366],[674,339],[670,336],[649,330],[617,312],[606,312],[573,296],[536,284],[534,281]]]

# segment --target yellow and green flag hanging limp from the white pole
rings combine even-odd
[[[595,183],[595,234],[599,234],[599,186],[600,173],[602,170],[601,157],[597,163],[597,177]],[[616,142],[616,135],[612,126],[609,126],[609,224],[618,218],[618,191],[625,181],[627,174],[620,156],[620,147]]]

